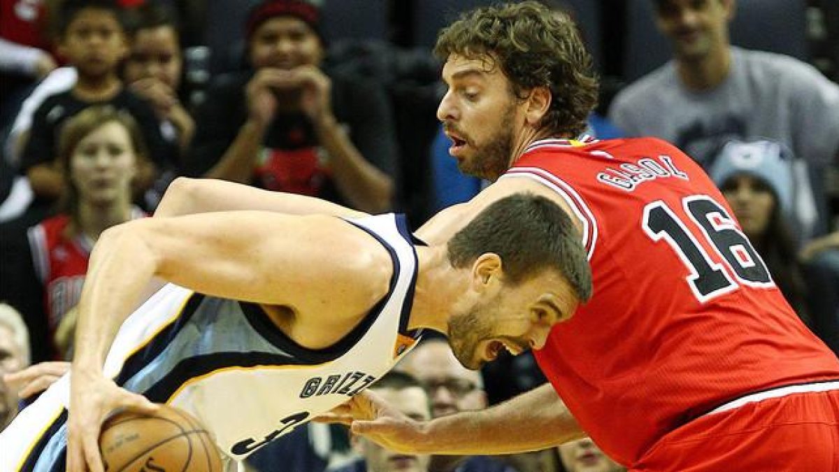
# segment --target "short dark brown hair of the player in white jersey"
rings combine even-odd
[[[503,273],[515,285],[542,270],[556,270],[581,302],[591,298],[591,268],[571,218],[554,202],[533,193],[503,197],[449,240],[452,267],[472,264],[481,254],[501,257]]]

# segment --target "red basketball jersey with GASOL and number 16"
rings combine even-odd
[[[581,427],[632,464],[664,433],[738,396],[839,379],[720,191],[659,139],[545,139],[502,178],[532,178],[584,225],[594,294],[539,366]]]

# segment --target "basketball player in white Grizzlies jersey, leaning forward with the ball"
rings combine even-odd
[[[483,360],[538,348],[591,295],[579,241],[532,194],[432,246],[393,214],[206,212],[109,229],[81,297],[72,381],[0,434],[0,468],[101,472],[102,421],[154,403],[198,417],[233,467],[371,385],[420,328]],[[169,285],[132,314],[154,278]],[[478,317],[495,327],[477,329]]]

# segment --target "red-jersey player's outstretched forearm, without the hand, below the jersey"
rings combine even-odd
[[[551,448],[585,433],[546,384],[486,410],[436,418],[424,436],[420,453],[492,455]]]

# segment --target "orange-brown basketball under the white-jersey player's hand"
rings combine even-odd
[[[102,425],[99,448],[107,472],[221,472],[210,433],[172,406],[162,406],[154,415],[125,411],[109,417]]]

